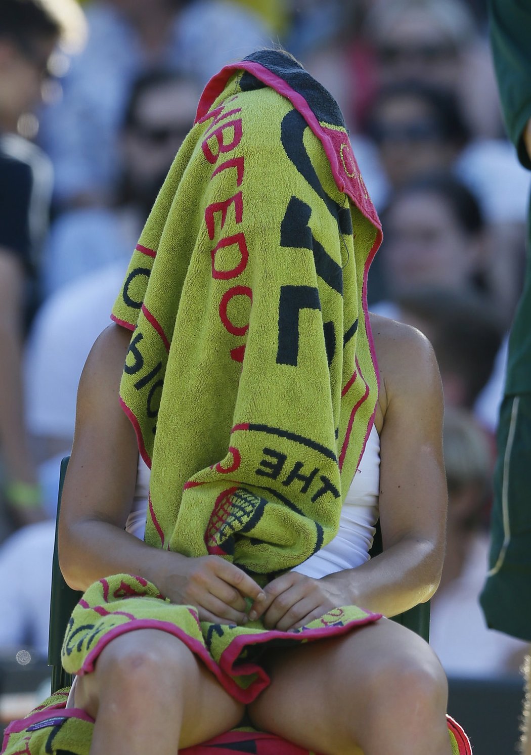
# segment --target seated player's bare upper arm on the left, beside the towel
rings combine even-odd
[[[121,529],[131,509],[138,449],[119,404],[119,384],[131,334],[110,325],[88,355],[76,408],[76,431],[63,487],[59,538],[87,519]]]

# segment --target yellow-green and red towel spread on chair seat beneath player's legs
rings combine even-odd
[[[5,732],[5,755],[88,755],[94,723],[82,710],[65,710],[68,689],[48,698],[26,719],[12,723]],[[446,716],[452,755],[472,755],[462,727]],[[186,747],[181,755],[319,755],[274,734],[255,729],[233,729],[204,744]]]

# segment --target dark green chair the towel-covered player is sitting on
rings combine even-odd
[[[63,636],[66,631],[66,624],[73,612],[74,606],[79,601],[82,593],[72,590],[66,584],[61,574],[59,566],[59,557],[57,553],[57,524],[59,522],[59,511],[61,495],[63,493],[63,482],[68,466],[69,457],[66,456],[61,461],[59,495],[57,498],[57,522],[55,525],[55,545],[54,560],[51,571],[51,602],[50,602],[50,634],[48,640],[48,665],[51,666],[51,692],[57,689],[69,686],[72,683],[72,676],[63,669],[61,664],[61,647],[63,645]],[[377,529],[375,541],[372,546],[371,556],[381,553],[381,533]],[[402,624],[412,631],[419,634],[428,642],[430,632],[430,604],[419,603],[409,611],[398,616],[394,616],[394,621]]]

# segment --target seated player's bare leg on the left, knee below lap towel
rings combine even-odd
[[[75,704],[96,720],[90,755],[176,755],[232,729],[244,710],[181,640],[151,629],[113,639],[80,677]]]

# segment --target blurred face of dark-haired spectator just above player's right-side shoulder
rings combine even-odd
[[[480,240],[466,233],[437,193],[399,196],[387,214],[382,248],[392,294],[437,285],[463,290],[480,264]]]

